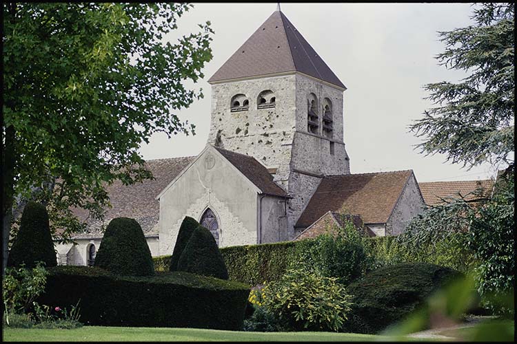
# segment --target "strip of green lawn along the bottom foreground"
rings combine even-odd
[[[387,336],[332,332],[236,332],[171,327],[83,326],[74,330],[5,328],[3,341],[389,341]],[[414,339],[413,339],[414,340]]]

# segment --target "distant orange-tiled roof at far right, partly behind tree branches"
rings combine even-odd
[[[466,196],[465,200],[474,200],[479,197],[487,197],[491,194],[494,182],[492,180],[458,180],[454,182],[425,182],[418,183],[424,197],[425,204],[433,206],[440,204],[442,198],[458,197],[458,193]],[[482,195],[473,195],[476,189],[482,188]]]

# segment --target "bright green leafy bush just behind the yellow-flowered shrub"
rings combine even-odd
[[[301,240],[290,261],[291,268],[303,266],[307,271],[336,277],[338,283],[346,286],[361,277],[371,265],[365,238],[352,222],[347,222],[344,228],[334,226],[332,229],[314,239]]]

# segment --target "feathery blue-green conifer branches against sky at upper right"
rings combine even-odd
[[[424,137],[423,152],[469,167],[509,162],[514,152],[514,4],[482,3],[472,19],[475,25],[439,32],[446,48],[436,57],[469,75],[425,85],[437,106],[410,127]]]

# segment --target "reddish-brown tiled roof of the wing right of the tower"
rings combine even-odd
[[[327,211],[359,215],[365,224],[384,224],[412,173],[407,170],[325,177],[296,227],[310,226]]]

